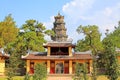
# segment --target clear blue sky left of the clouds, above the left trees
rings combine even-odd
[[[50,16],[61,11],[62,6],[68,1],[70,0],[3,0],[0,2],[0,20],[12,14],[18,26],[27,19],[46,22]]]

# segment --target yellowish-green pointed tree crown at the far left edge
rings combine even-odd
[[[4,21],[0,22],[0,48],[4,48],[9,45],[9,43],[14,42],[17,34],[18,28],[11,14],[9,14],[5,17]]]

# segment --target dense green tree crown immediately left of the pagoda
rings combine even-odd
[[[46,30],[42,23],[36,20],[27,20],[25,24],[20,28],[23,32],[19,33],[17,40],[17,49],[22,51],[44,51],[43,43],[45,35],[53,35],[51,30]]]

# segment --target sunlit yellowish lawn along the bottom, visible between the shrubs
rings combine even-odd
[[[7,80],[7,77],[4,76],[0,76],[0,80]],[[24,76],[15,76],[14,80],[23,80]],[[32,79],[31,79],[32,80]],[[89,77],[89,80],[91,80],[91,78]],[[107,79],[105,76],[98,76],[97,80],[109,80]],[[118,80],[120,80],[120,77],[118,78]]]

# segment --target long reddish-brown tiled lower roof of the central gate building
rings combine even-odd
[[[92,59],[91,54],[73,54],[73,56],[67,56],[67,55],[59,55],[59,56],[47,56],[47,54],[29,54],[26,57],[22,57],[22,59],[37,59],[37,60],[75,60],[75,59]]]

